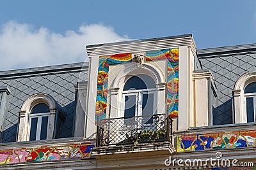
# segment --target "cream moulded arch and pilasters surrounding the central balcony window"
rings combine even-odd
[[[116,118],[123,115],[123,89],[124,85],[132,75],[147,74],[156,82],[156,114],[166,112],[166,80],[161,69],[152,64],[142,63],[140,66],[136,63],[125,65],[125,69],[115,76],[111,83],[110,92],[110,114],[109,117]]]

